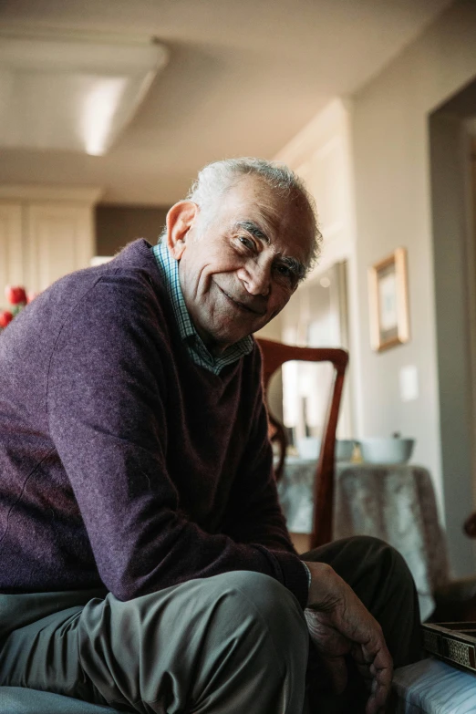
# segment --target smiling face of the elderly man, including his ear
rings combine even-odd
[[[313,240],[303,204],[285,202],[264,181],[244,177],[222,196],[203,230],[195,204],[172,207],[170,215],[182,206],[181,220],[168,221],[169,246],[180,259],[181,290],[197,332],[212,351],[259,330],[293,295]]]

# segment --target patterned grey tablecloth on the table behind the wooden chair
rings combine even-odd
[[[288,458],[278,484],[291,533],[311,533],[316,461]],[[419,593],[421,617],[448,582],[448,558],[429,471],[420,466],[336,464],[334,538],[374,535],[403,555]]]

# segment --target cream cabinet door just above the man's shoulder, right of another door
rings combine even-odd
[[[30,290],[45,290],[57,278],[88,267],[94,247],[90,206],[30,203],[26,224]]]

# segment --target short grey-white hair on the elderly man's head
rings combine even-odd
[[[216,211],[217,199],[232,189],[243,176],[256,176],[262,179],[285,201],[302,202],[303,211],[308,213],[313,227],[311,252],[306,265],[306,272],[309,272],[316,264],[322,242],[317,223],[316,202],[305,188],[304,181],[285,164],[250,157],[213,161],[199,171],[197,179],[191,184],[187,200],[200,206],[206,224]]]

